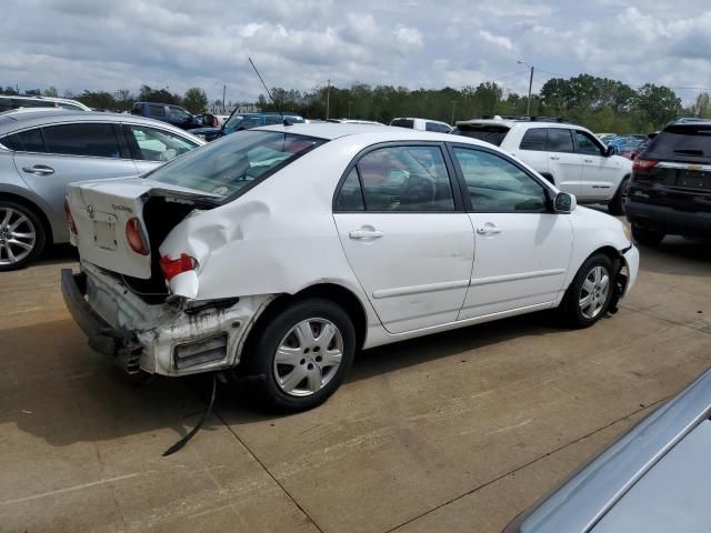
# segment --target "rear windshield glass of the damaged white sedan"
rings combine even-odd
[[[144,177],[227,198],[324,142],[291,133],[242,131],[192,150]]]

